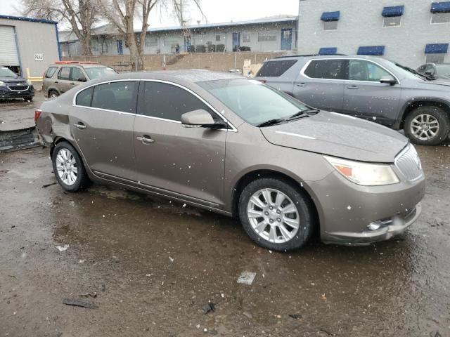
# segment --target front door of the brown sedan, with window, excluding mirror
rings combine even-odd
[[[214,117],[184,88],[141,82],[134,123],[136,180],[148,190],[217,208],[224,198],[227,131],[181,126],[181,114],[198,109]]]

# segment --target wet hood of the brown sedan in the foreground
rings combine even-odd
[[[335,112],[319,112],[260,130],[274,145],[358,161],[392,163],[408,144],[397,131]]]

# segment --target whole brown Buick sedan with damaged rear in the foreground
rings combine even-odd
[[[96,79],[35,120],[63,190],[95,181],[236,216],[276,251],[314,231],[326,243],[389,239],[420,214],[425,179],[407,138],[236,74]]]

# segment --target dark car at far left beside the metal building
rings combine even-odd
[[[33,100],[34,87],[7,67],[0,67],[0,99],[23,98]]]

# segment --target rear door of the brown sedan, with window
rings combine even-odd
[[[86,88],[77,95],[69,121],[91,171],[109,180],[134,178],[133,126],[139,81]]]

